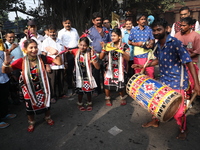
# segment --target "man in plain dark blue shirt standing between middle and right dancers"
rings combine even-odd
[[[99,56],[101,53],[102,47],[100,42],[108,43],[111,41],[110,32],[107,28],[102,26],[102,16],[99,12],[94,12],[92,14],[92,23],[93,26],[89,29],[88,37],[91,39],[91,46],[94,48],[96,55]],[[101,93],[101,82],[100,82],[100,71],[103,79],[103,64],[99,60],[100,70],[97,70],[95,67],[92,68],[92,73],[97,83],[97,89],[95,90],[95,95]]]

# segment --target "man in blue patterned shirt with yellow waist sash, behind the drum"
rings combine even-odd
[[[143,65],[148,59],[148,54],[154,43],[154,37],[151,28],[146,26],[146,16],[138,14],[136,16],[138,26],[131,29],[129,35],[129,45],[134,46],[134,64]],[[148,44],[145,44],[148,42]],[[135,73],[139,73],[141,69],[135,69]],[[154,78],[154,67],[147,67],[145,69],[148,76]]]

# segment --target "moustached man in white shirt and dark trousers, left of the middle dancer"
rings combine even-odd
[[[63,29],[58,32],[58,39],[62,41],[62,44],[67,48],[77,48],[79,35],[75,28],[72,28],[70,18],[63,18]],[[74,56],[70,53],[65,54],[65,66],[66,68],[66,81],[68,85],[67,96],[73,95],[73,70],[74,70]]]

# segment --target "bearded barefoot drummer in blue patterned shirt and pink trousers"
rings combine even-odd
[[[149,67],[159,64],[161,75],[160,81],[182,94],[182,103],[174,115],[174,118],[180,127],[180,133],[177,138],[184,140],[187,133],[186,116],[184,114],[184,90],[189,86],[185,65],[188,67],[194,78],[194,90],[198,95],[200,94],[199,81],[188,51],[179,40],[167,34],[167,22],[164,19],[158,18],[153,22],[151,28],[153,30],[154,38],[158,39],[158,42],[156,43],[158,47],[155,51],[156,59],[148,63],[147,66]],[[183,67],[181,67],[182,65]],[[183,87],[180,87],[181,69],[183,69],[184,72]],[[142,127],[158,127],[158,123],[159,120],[153,116],[152,121],[143,124]]]

